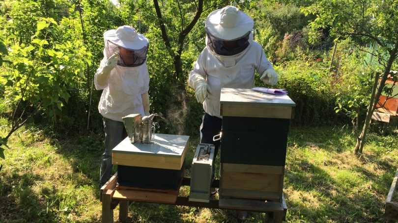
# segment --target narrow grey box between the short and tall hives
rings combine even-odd
[[[214,145],[199,143],[191,168],[189,201],[209,202],[214,168]]]

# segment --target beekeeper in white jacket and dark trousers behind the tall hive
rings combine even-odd
[[[205,22],[206,47],[189,75],[189,85],[205,112],[200,142],[214,144],[216,154],[220,141],[213,142],[213,136],[221,131],[221,88],[251,89],[255,71],[266,84],[275,85],[279,79],[264,50],[253,40],[253,26],[253,19],[234,6],[210,13]],[[245,219],[246,214],[239,218]]]

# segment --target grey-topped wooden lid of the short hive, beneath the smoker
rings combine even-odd
[[[130,143],[128,137],[112,149],[116,165],[180,170],[189,136],[154,134],[153,144]]]

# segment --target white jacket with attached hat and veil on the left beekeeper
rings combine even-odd
[[[124,25],[104,33],[104,58],[94,76],[97,90],[103,89],[98,110],[105,118],[122,122],[129,114],[149,115],[149,74],[146,52],[149,41],[133,27]],[[133,50],[123,58],[120,48]],[[127,56],[126,56],[127,57]],[[131,59],[134,64],[126,65]]]

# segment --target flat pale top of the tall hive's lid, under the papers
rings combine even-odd
[[[296,106],[296,103],[287,95],[271,95],[242,88],[222,88],[220,103],[236,105]]]

